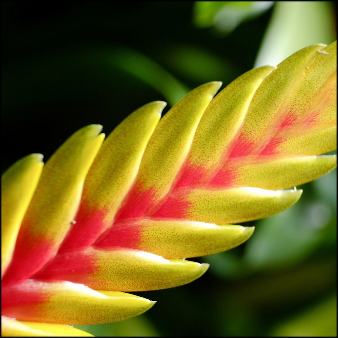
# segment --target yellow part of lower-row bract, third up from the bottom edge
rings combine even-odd
[[[95,258],[96,272],[89,276],[94,289],[147,291],[172,288],[199,278],[209,268],[182,259],[167,260],[150,252],[118,248],[112,251],[88,248]]]

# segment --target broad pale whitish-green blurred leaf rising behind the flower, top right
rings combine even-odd
[[[276,1],[255,67],[276,66],[297,50],[336,40],[332,1]]]

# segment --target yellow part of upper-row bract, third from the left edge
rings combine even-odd
[[[165,106],[165,102],[155,101],[129,115],[103,142],[88,172],[82,199],[89,208],[107,207],[104,221],[109,225],[135,180],[144,150]]]

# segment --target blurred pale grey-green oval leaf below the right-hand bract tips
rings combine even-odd
[[[334,226],[327,204],[300,201],[261,220],[245,247],[244,260],[254,269],[279,269],[299,263],[320,245],[325,227]]]

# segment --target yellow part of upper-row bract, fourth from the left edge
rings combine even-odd
[[[155,201],[165,196],[189,152],[199,120],[221,82],[197,87],[163,117],[144,153],[137,182],[152,188]]]

